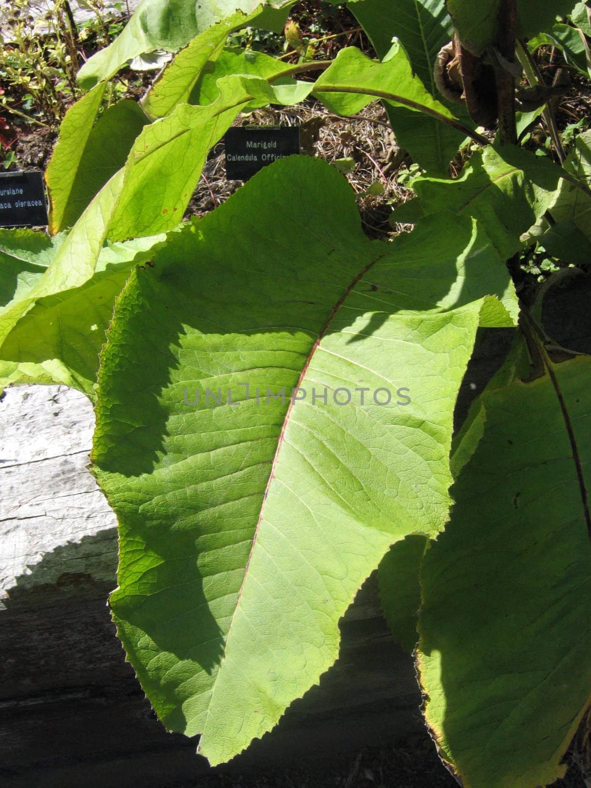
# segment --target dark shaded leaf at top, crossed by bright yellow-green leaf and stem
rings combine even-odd
[[[469,128],[473,127],[464,106],[450,104],[437,91],[433,67],[442,46],[452,39],[452,20],[444,0],[362,0],[349,5],[367,33],[378,57],[384,58],[392,46],[392,36],[400,39],[410,58],[414,73],[429,93],[452,110]],[[435,118],[422,117],[403,107],[387,106],[388,117],[396,137],[422,137],[421,163],[430,172],[448,174],[463,136]],[[402,143],[400,143],[402,144]]]

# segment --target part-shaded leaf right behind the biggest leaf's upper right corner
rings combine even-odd
[[[562,170],[547,158],[507,146],[474,154],[459,178],[413,181],[425,213],[450,210],[481,222],[500,256],[508,260],[519,237],[556,202]]]

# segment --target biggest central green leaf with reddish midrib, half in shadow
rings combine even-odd
[[[117,302],[92,452],[120,522],[113,614],[158,715],[201,732],[211,763],[318,682],[388,546],[444,525],[450,403],[478,323],[511,325],[484,297],[504,266],[453,225],[371,242],[344,179],[290,157],[171,236]],[[344,387],[413,400],[337,406]]]

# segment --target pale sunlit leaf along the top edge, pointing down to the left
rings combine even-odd
[[[93,55],[78,72],[84,90],[109,80],[127,61],[162,49],[176,52],[195,35],[243,12],[243,25],[277,30],[283,28],[291,0],[142,0],[123,32]],[[241,25],[242,26],[242,25]]]

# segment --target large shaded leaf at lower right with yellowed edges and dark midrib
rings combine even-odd
[[[481,395],[481,440],[422,566],[426,718],[466,788],[563,775],[591,691],[591,359],[547,370]]]

